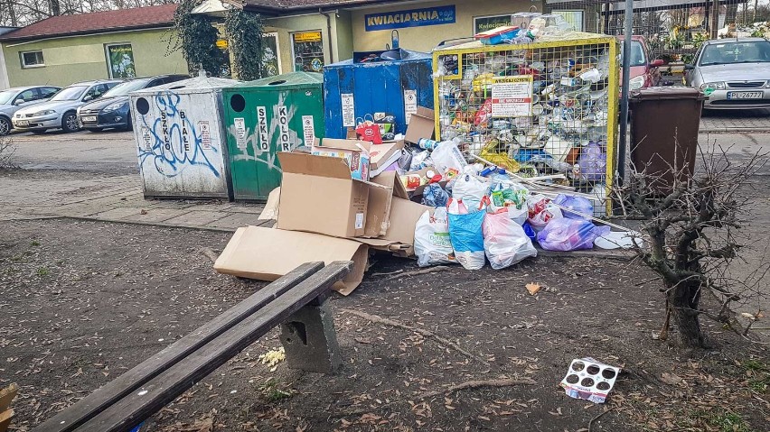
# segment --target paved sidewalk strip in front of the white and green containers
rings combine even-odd
[[[264,205],[145,199],[137,174],[13,171],[0,177],[0,220],[78,217],[231,231],[258,225]]]

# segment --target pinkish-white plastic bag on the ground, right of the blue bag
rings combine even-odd
[[[494,270],[504,269],[521,260],[537,256],[538,251],[521,225],[502,208],[484,216],[484,253]]]

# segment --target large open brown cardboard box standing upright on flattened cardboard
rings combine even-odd
[[[339,158],[278,152],[278,161],[284,171],[278,228],[335,237],[380,235],[390,211],[383,198],[392,188],[351,179],[347,162]]]

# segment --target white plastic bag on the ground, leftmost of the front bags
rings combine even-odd
[[[433,216],[426,210],[420,216],[415,225],[415,254],[420,267],[457,262],[449,240],[446,208],[437,207]]]

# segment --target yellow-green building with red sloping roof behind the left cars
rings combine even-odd
[[[176,5],[52,17],[0,36],[10,87],[186,74],[169,52]]]

